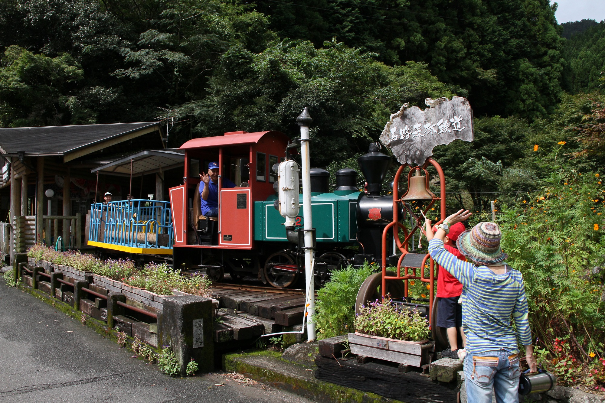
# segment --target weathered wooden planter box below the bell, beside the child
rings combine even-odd
[[[433,343],[428,340],[406,341],[386,337],[348,333],[348,345],[353,354],[420,367],[430,362]]]

